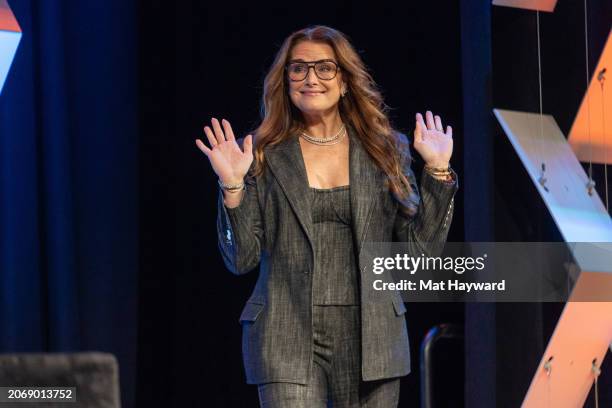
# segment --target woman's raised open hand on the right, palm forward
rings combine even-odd
[[[425,113],[427,125],[423,115],[416,114],[416,128],[414,129],[414,149],[419,152],[425,164],[430,167],[443,167],[449,165],[453,154],[453,129],[450,126],[442,127],[442,119],[433,115],[431,111]]]

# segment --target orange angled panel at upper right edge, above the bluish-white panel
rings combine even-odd
[[[612,164],[611,70],[612,31],[570,130],[570,146],[583,162]]]

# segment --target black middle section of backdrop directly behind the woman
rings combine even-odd
[[[411,134],[415,113],[426,109],[453,125],[453,165],[461,174],[460,31],[452,3],[140,2],[142,406],[257,404],[256,388],[245,384],[238,323],[257,271],[236,277],[222,264],[216,176],[194,144],[202,127],[213,116],[227,118],[246,135],[258,122],[263,77],[282,40],[327,24],[360,50],[399,129]],[[461,194],[457,200],[451,239],[462,240]],[[461,304],[408,305],[413,373],[402,380],[402,406],[418,405],[426,330],[462,324],[462,316]],[[454,383],[454,406],[462,383]]]

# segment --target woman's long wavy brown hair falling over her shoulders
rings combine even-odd
[[[412,199],[405,200],[413,197],[413,190],[402,172],[402,166],[409,163],[402,163],[398,134],[389,122],[388,107],[346,35],[327,26],[304,28],[287,37],[266,74],[261,103],[262,121],[253,132],[253,140],[256,141],[253,176],[263,173],[264,148],[267,145],[276,145],[304,130],[303,117],[289,97],[285,74],[291,50],[300,41],[324,42],[334,50],[348,90],[339,102],[340,116],[355,130],[370,157],[386,173],[387,186],[404,204],[402,211],[414,215],[417,203]]]

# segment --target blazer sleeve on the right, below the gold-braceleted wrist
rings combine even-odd
[[[398,149],[402,157],[402,169],[414,191],[404,200],[395,197],[400,206],[408,201],[418,203],[417,212],[410,217],[398,210],[393,224],[394,240],[409,243],[413,256],[439,256],[444,249],[454,212],[454,196],[459,188],[457,173],[452,171],[453,183],[436,179],[428,172],[421,175],[421,191],[416,185],[414,172],[410,168],[412,156],[408,138],[398,134]]]

